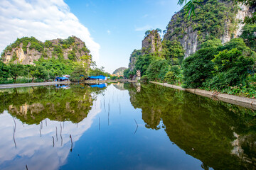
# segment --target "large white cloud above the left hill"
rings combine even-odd
[[[75,35],[85,42],[93,60],[99,60],[100,45],[63,0],[1,0],[0,13],[0,52],[23,36],[45,41]]]

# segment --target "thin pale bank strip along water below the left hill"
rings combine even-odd
[[[0,89],[9,89],[16,87],[26,87],[26,86],[48,86],[54,84],[70,84],[70,81],[52,81],[43,83],[26,83],[26,84],[0,84]]]

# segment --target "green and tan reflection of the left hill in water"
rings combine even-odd
[[[39,124],[46,118],[79,123],[91,110],[95,100],[91,94],[99,92],[81,85],[71,85],[70,89],[53,86],[8,89],[0,93],[0,112],[8,110],[27,124]]]

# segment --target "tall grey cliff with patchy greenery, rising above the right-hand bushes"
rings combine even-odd
[[[186,11],[176,13],[166,27],[166,40],[178,40],[185,50],[185,57],[200,48],[201,42],[219,38],[223,43],[241,35],[242,21],[253,9],[235,5],[233,1],[205,1],[196,8],[195,16],[188,20]]]

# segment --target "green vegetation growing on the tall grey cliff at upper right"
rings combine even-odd
[[[186,10],[182,9],[176,16],[171,19],[171,22],[166,27],[166,35],[164,37],[167,40],[179,40],[183,39],[183,35],[193,32],[197,33],[197,42],[205,42],[213,38],[220,38],[225,33],[225,23],[228,24],[228,30],[232,34],[238,24],[235,19],[236,13],[238,13],[238,6],[234,5],[232,1],[227,0],[224,2],[218,0],[203,1],[202,6],[196,5],[195,15],[189,19],[186,14]],[[188,29],[189,28],[189,29]]]

